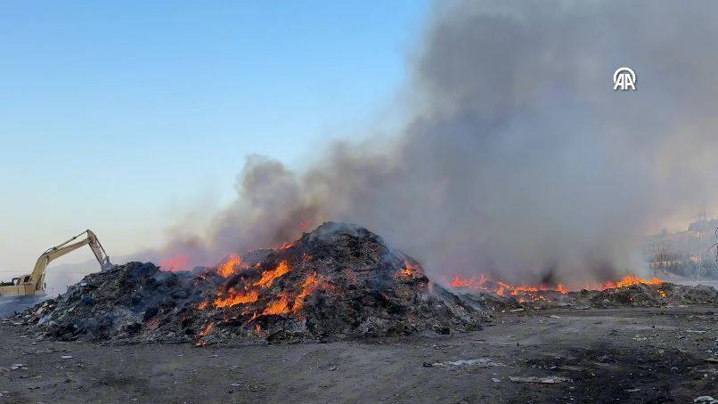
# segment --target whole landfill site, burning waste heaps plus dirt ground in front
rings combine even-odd
[[[441,287],[371,231],[330,222],[215,268],[118,265],[0,320],[0,394],[688,402],[718,383],[713,287],[634,279],[496,293],[493,283]]]

